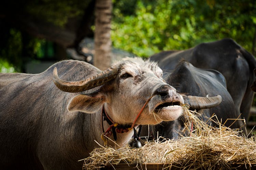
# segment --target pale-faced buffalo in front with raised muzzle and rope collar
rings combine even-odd
[[[161,76],[155,62],[141,58],[125,58],[105,71],[67,60],[40,74],[1,73],[1,169],[81,169],[77,160],[98,146],[94,140],[103,145],[102,129],[110,126],[104,121],[102,127],[103,108],[115,124],[129,127],[150,98],[136,126],[175,120],[183,103],[211,107],[221,101],[183,99]],[[117,145],[132,135],[117,133]]]

